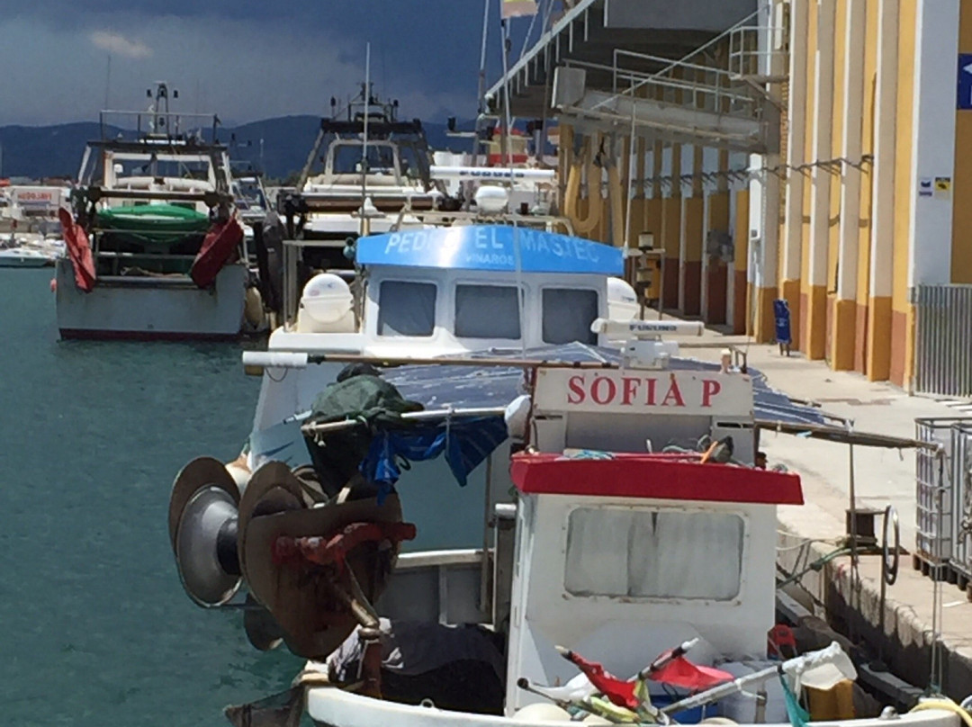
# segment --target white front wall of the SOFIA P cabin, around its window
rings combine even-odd
[[[507,664],[513,686],[507,691],[507,713],[537,701],[515,688],[516,678],[563,684],[577,674],[554,645],[576,649],[585,658],[604,663],[611,673],[625,677],[665,649],[696,635],[711,646],[700,644],[693,651],[690,658],[698,662],[712,663],[718,655],[765,658],[767,632],[773,627],[776,608],[775,564],[765,557],[776,546],[775,506],[521,495],[521,510],[527,502],[536,508],[536,515],[528,517],[521,512],[517,520],[517,548],[518,552],[522,549],[524,571],[513,576]],[[698,508],[743,516],[746,540],[738,598],[726,603],[666,602],[568,594],[564,577],[569,513],[577,506],[604,505]]]

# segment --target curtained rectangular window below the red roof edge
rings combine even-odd
[[[577,508],[565,585],[574,596],[732,601],[745,531],[725,512]]]

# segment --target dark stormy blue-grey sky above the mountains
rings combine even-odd
[[[491,81],[499,70],[498,2],[491,0]],[[159,80],[179,90],[174,110],[215,112],[226,124],[324,115],[331,95],[346,98],[364,80],[367,41],[375,89],[398,97],[405,117],[475,115],[483,0],[4,5],[0,125],[96,121],[106,87],[110,108],[141,110],[146,88]],[[513,22],[515,36],[530,25]]]

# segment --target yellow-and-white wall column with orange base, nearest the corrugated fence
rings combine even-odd
[[[894,172],[898,114],[898,0],[880,0],[874,184],[871,222],[870,300],[867,312],[867,377],[885,380],[891,362],[891,274],[894,243]]]

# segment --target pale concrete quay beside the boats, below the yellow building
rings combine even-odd
[[[645,318],[655,314],[646,312]],[[763,372],[769,384],[792,398],[812,400],[827,413],[851,419],[860,432],[914,438],[915,419],[965,415],[955,404],[909,396],[886,382],[870,382],[851,372],[808,361],[799,353],[782,355],[776,345],[747,342],[745,336],[706,331],[706,344],[724,343],[746,351],[749,366]],[[691,341],[685,341],[690,345]],[[715,360],[720,349],[692,350],[683,355]],[[837,549],[847,536],[850,506],[850,447],[829,441],[763,432],[760,449],[769,466],[781,464],[799,472],[806,504],[780,508],[778,565],[790,573]],[[938,673],[932,675],[931,644],[935,582],[913,568],[916,543],[916,468],[914,450],[853,447],[856,506],[884,510],[893,505],[900,519],[901,545],[897,580],[886,587],[884,635],[881,634],[881,556],[859,559],[858,588],[851,587],[851,558],[835,558],[820,571],[800,579],[809,592],[805,604],[851,640],[865,639],[880,649],[885,664],[921,689],[929,683],[955,700],[972,694],[972,603],[955,584],[940,583],[937,631]],[[876,520],[880,538],[882,518]],[[805,594],[806,595],[806,594]]]

